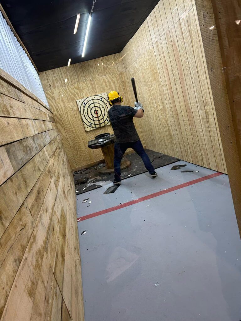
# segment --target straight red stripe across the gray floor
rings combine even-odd
[[[137,204],[137,203],[149,200],[150,198],[153,198],[153,197],[156,197],[156,196],[160,196],[160,195],[163,195],[163,194],[167,194],[167,193],[176,191],[177,189],[180,189],[180,188],[183,188],[183,187],[187,187],[187,186],[190,186],[190,185],[194,185],[194,184],[203,182],[204,180],[217,177],[219,175],[222,175],[222,173],[218,173],[217,172],[217,173],[214,173],[214,174],[211,174],[211,175],[208,175],[208,176],[204,176],[204,177],[200,177],[200,178],[197,178],[197,179],[193,179],[192,181],[189,181],[189,182],[186,182],[186,183],[174,186],[174,187],[170,187],[170,188],[164,189],[162,191],[159,191],[159,192],[147,195],[147,196],[143,196],[143,197],[137,198],[135,200],[132,200],[132,201],[129,201],[129,202],[117,205],[117,206],[113,206],[113,207],[107,208],[107,209],[102,210],[102,211],[94,212],[92,214],[88,214],[88,215],[85,215],[85,216],[82,216],[82,217],[77,217],[77,221],[80,222],[80,221],[88,220],[88,219],[90,219],[92,217],[96,217],[96,216],[99,216],[99,215],[102,215],[102,214],[113,212],[113,211],[119,210],[119,209],[121,209],[123,207],[127,207],[127,206],[130,206],[130,205],[133,205],[133,204]]]

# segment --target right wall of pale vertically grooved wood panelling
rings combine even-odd
[[[146,147],[226,173],[194,0],[160,0],[121,56]]]

